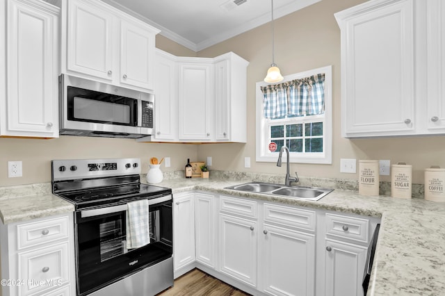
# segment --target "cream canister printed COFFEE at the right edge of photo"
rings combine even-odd
[[[445,202],[445,169],[430,167],[425,170],[425,199]]]

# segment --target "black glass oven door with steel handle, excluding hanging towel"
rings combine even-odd
[[[86,295],[172,256],[172,196],[149,199],[148,245],[127,249],[127,204],[76,213],[77,293]]]

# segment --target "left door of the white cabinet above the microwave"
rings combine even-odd
[[[67,27],[67,69],[111,81],[113,15],[91,1],[69,1]]]

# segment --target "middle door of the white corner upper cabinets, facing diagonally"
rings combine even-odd
[[[179,140],[211,140],[212,65],[179,65]]]

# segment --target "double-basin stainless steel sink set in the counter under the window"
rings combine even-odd
[[[250,182],[235,186],[229,186],[225,189],[238,191],[258,192],[266,195],[278,195],[294,199],[305,199],[317,201],[329,194],[332,189],[314,188],[306,186],[284,186],[273,183]]]

